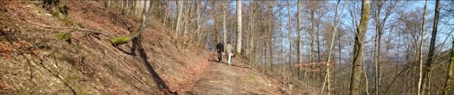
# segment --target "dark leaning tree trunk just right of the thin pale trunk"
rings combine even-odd
[[[424,76],[423,76],[423,79],[422,79],[422,83],[421,83],[421,94],[423,95],[426,95],[425,93],[427,93],[428,95],[428,92],[429,92],[429,87],[426,87],[428,86],[429,82],[429,78],[430,78],[430,68],[432,68],[432,60],[433,60],[433,57],[434,57],[434,50],[435,50],[435,40],[437,39],[437,26],[438,26],[438,16],[439,16],[439,4],[440,3],[440,0],[436,0],[436,4],[435,4],[435,17],[434,17],[434,28],[432,29],[432,38],[430,39],[430,46],[429,46],[429,55],[427,56],[428,59],[427,59],[427,62],[426,62],[426,68],[425,68],[425,71],[424,71]],[[427,90],[427,92],[425,92]]]

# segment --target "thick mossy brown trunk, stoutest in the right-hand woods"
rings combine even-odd
[[[350,77],[350,95],[360,95],[361,71],[363,70],[363,44],[367,25],[369,23],[370,0],[363,0],[361,21],[355,36],[355,49],[353,55],[353,69]]]

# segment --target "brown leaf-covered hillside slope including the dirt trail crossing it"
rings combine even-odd
[[[70,43],[59,40],[60,32],[72,30],[34,23],[78,26],[112,36],[127,35],[140,23],[115,10],[106,13],[94,0],[62,4],[70,8],[68,21],[34,1],[0,1],[1,94],[283,94],[280,82],[247,68],[241,59],[227,66],[210,61],[213,55],[205,49],[179,49],[171,29],[154,19],[139,40],[118,47],[108,37],[87,31],[71,32]]]

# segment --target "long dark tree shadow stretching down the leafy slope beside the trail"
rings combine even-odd
[[[140,44],[140,40],[134,38],[132,40],[133,42],[133,47],[131,48],[131,51],[134,51],[137,48],[138,53],[140,55],[140,58],[142,58],[143,63],[145,63],[145,66],[148,68],[148,72],[150,72],[151,76],[153,77],[153,80],[158,84],[159,90],[164,90],[166,95],[171,94],[171,95],[178,95],[177,92],[172,92],[169,87],[164,83],[163,79],[158,75],[158,73],[154,70],[153,66],[151,66],[151,63],[148,61],[148,56],[143,50],[142,45]]]

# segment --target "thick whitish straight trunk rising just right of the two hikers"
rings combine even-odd
[[[242,42],[242,22],[241,22],[241,0],[237,0],[237,48],[235,56],[241,56],[241,42]]]

